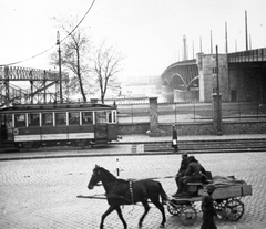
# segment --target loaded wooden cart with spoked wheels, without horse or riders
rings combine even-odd
[[[233,178],[233,180],[235,179]],[[188,190],[190,188],[196,188],[195,197],[171,197],[167,201],[168,212],[178,216],[182,223],[186,226],[193,225],[196,221],[196,202],[202,201],[203,194],[203,185],[201,183],[190,183]],[[249,195],[252,195],[252,185],[247,185],[244,181],[222,185],[216,183],[216,189],[213,194],[214,208],[222,218],[236,221],[244,214],[244,202],[241,199]]]

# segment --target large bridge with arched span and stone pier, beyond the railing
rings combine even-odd
[[[266,103],[266,48],[218,54],[219,91],[224,101]],[[212,101],[217,91],[216,54],[171,64],[161,75],[168,102]]]

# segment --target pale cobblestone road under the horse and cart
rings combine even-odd
[[[217,220],[218,228],[239,228],[258,223],[266,228],[266,154],[205,154],[196,158],[213,175],[234,175],[253,185],[253,196],[243,198],[245,214],[238,222]],[[181,156],[121,156],[122,178],[165,177],[176,174]],[[108,202],[101,199],[76,198],[78,195],[103,194],[103,187],[86,188],[91,171],[99,164],[115,174],[116,157],[79,157],[0,162],[0,228],[61,229],[99,228]],[[160,179],[165,191],[175,191],[174,179]],[[200,208],[198,208],[200,209]],[[123,215],[129,229],[137,228],[143,212],[140,206],[125,206]],[[166,228],[200,228],[202,215],[192,227],[184,227],[178,217],[166,211]],[[143,228],[158,228],[161,214],[152,208]],[[105,228],[122,229],[116,212],[105,219]]]

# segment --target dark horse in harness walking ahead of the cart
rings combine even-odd
[[[91,180],[88,185],[89,189],[92,189],[99,181],[102,181],[103,187],[106,191],[106,199],[110,205],[109,209],[102,215],[102,220],[100,228],[103,228],[103,221],[108,215],[110,215],[113,210],[117,211],[117,215],[121,221],[126,229],[126,222],[123,218],[120,206],[121,205],[134,205],[136,202],[142,202],[145,208],[143,216],[139,221],[139,227],[142,227],[142,222],[147,211],[150,210],[150,206],[147,200],[150,199],[162,212],[163,220],[161,222],[161,228],[164,227],[166,218],[164,212],[163,204],[167,200],[167,195],[165,194],[161,183],[152,180],[152,179],[142,179],[142,180],[124,180],[117,179],[113,176],[109,170],[95,166],[93,169],[93,174]],[[162,198],[162,204],[160,202],[160,196]]]

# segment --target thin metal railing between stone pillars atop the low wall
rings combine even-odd
[[[120,123],[150,122],[150,104],[119,104]],[[158,123],[212,122],[212,103],[160,103],[157,104]],[[266,104],[259,102],[223,102],[223,121],[265,119]]]

